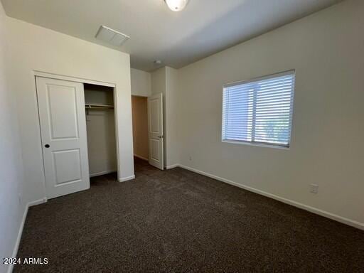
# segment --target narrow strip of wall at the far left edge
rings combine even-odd
[[[0,257],[12,257],[25,210],[23,161],[19,139],[16,97],[8,85],[9,56],[6,17],[0,2]],[[0,272],[8,265],[0,264]]]

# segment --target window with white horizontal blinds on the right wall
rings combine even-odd
[[[289,147],[294,71],[224,85],[223,141]]]

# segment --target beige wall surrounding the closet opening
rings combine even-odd
[[[6,18],[11,58],[9,82],[17,96],[26,202],[45,197],[34,70],[116,85],[119,179],[134,176],[129,55]]]

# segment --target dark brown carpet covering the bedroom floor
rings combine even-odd
[[[14,272],[364,272],[364,232],[175,168],[30,208]]]

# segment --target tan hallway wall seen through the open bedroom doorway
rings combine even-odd
[[[148,111],[146,97],[132,96],[134,155],[148,160]]]

